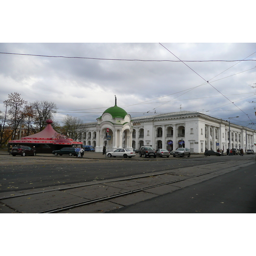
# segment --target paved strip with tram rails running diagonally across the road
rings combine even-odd
[[[226,162],[226,163],[213,163],[213,164],[207,164],[204,166],[195,166],[195,167],[187,167],[187,168],[181,168],[177,170],[170,170],[168,172],[160,172],[160,173],[154,173],[151,175],[141,175],[140,177],[126,177],[126,178],[119,178],[116,181],[113,180],[103,180],[97,183],[89,183],[89,184],[76,184],[73,186],[60,186],[59,188],[54,189],[47,189],[47,190],[41,190],[41,191],[32,191],[32,192],[25,192],[20,193],[18,195],[10,195],[10,196],[2,196],[0,195],[0,201],[2,204],[5,204],[6,206],[10,207],[11,209],[17,211],[17,212],[23,212],[19,209],[15,209],[15,207],[12,206],[12,200],[15,200],[15,198],[25,198],[28,196],[33,195],[45,195],[45,197],[42,199],[44,202],[47,201],[47,198],[50,198],[52,196],[53,192],[64,192],[66,195],[73,195],[75,198],[79,198],[79,200],[74,200],[77,202],[72,202],[70,204],[61,204],[56,205],[55,207],[48,207],[50,209],[44,209],[44,210],[38,210],[35,211],[37,213],[58,213],[67,211],[73,208],[77,207],[84,207],[89,204],[102,202],[102,201],[111,201],[115,198],[121,198],[127,195],[136,194],[138,192],[145,192],[150,189],[154,189],[157,187],[165,186],[165,185],[171,185],[175,186],[176,189],[182,188],[183,186],[179,186],[180,183],[186,181],[186,180],[193,180],[195,181],[195,178],[197,177],[207,177],[206,179],[209,179],[209,175],[217,172],[221,172],[224,170],[228,170],[231,168],[239,168],[239,166],[243,166],[244,164],[249,165],[255,163],[255,160],[237,160],[233,161],[232,163]],[[220,167],[220,165],[224,165],[223,167]],[[189,169],[192,171],[189,172]],[[207,171],[206,171],[207,170]],[[203,171],[203,172],[202,172]],[[223,174],[221,172],[219,175]],[[177,178],[179,176],[179,178]],[[147,179],[147,181],[145,181]],[[157,180],[160,180],[161,182],[156,183]],[[163,182],[163,180],[166,180]],[[202,181],[202,180],[201,180]],[[200,180],[198,182],[201,182]],[[134,185],[134,182],[136,183]],[[132,186],[135,186],[134,189],[131,189]],[[156,183],[156,184],[154,184]],[[124,185],[126,184],[126,186]],[[86,195],[86,193],[91,189],[94,188],[94,193],[97,195]],[[104,189],[105,188],[105,189]],[[104,190],[104,192],[102,192]],[[110,191],[110,193],[106,192]],[[100,192],[99,192],[100,191]],[[112,193],[111,193],[112,191]],[[51,193],[52,192],[52,193]],[[98,195],[102,193],[102,195]],[[48,194],[48,195],[47,195]],[[82,196],[81,196],[82,195]],[[94,198],[90,198],[94,197]],[[29,197],[30,198],[30,197]],[[39,200],[39,199],[35,199]],[[144,199],[143,199],[144,200]],[[28,200],[25,200],[28,201]],[[29,207],[29,206],[28,206]],[[17,207],[18,208],[18,207]]]

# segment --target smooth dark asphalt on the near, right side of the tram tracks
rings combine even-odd
[[[242,167],[108,213],[256,213],[256,167]]]

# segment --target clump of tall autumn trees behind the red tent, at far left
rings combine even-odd
[[[53,119],[58,110],[53,102],[28,103],[19,93],[9,94],[3,105],[4,111],[0,111],[0,147],[21,135],[25,137],[42,131],[46,127],[45,121]]]

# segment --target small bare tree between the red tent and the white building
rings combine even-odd
[[[66,134],[74,141],[78,140],[81,137],[81,125],[83,123],[81,119],[79,119],[78,117],[67,115],[64,116],[62,122],[64,124],[64,126],[62,127],[64,134]]]

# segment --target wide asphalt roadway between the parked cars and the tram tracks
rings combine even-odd
[[[235,159],[254,159],[254,155],[168,159],[157,157],[145,161],[0,155],[0,192],[150,174]]]

